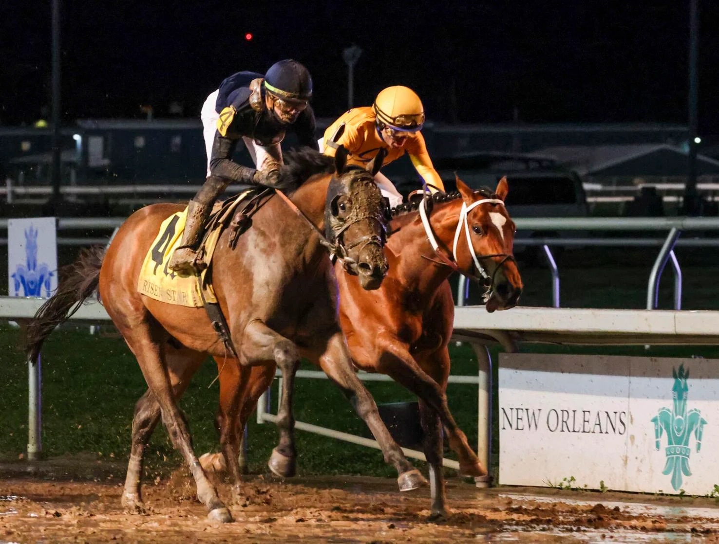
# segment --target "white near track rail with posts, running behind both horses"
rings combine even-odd
[[[43,303],[40,298],[0,297],[0,318],[13,321],[27,320]],[[97,323],[109,320],[104,308],[95,301],[83,305],[74,320]],[[492,410],[492,364],[487,346],[500,344],[505,351],[516,351],[521,342],[547,342],[551,344],[580,345],[715,345],[719,344],[719,311],[688,310],[613,310],[518,307],[505,312],[487,313],[485,308],[464,306],[457,308],[454,316],[456,341],[472,345],[477,354],[477,376],[455,376],[450,382],[476,383],[479,386],[479,431],[477,455],[489,466]],[[36,458],[42,450],[40,443],[40,361],[29,369],[29,457]],[[303,371],[298,377],[319,377]],[[373,374],[363,374],[362,379],[384,380]],[[273,421],[265,404],[258,407],[259,420]],[[317,425],[297,422],[301,430],[377,447],[375,441],[356,437]],[[409,456],[423,458],[418,451],[406,450]],[[457,468],[451,461],[446,464]],[[485,484],[485,482],[478,482]]]

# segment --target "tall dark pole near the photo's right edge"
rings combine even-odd
[[[699,41],[699,0],[690,0],[689,22],[689,167],[687,185],[684,188],[684,213],[695,216],[700,213],[699,196],[697,195],[697,127],[699,114],[697,111],[698,86],[697,61]]]

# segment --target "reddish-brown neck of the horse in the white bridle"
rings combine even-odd
[[[454,201],[435,205],[434,211],[429,214],[429,223],[440,251],[444,251],[450,257],[461,203],[462,201],[459,200],[457,205]],[[399,276],[406,287],[431,295],[453,270],[444,264],[441,257],[432,249],[419,213],[413,212],[412,215],[413,219],[390,236],[387,246],[398,258]]]

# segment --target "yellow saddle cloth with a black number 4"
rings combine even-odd
[[[218,212],[221,218],[210,221],[210,230],[203,240],[203,260],[211,263],[217,240],[223,230],[225,219],[232,215],[239,202],[247,195],[245,191],[232,200],[229,206],[223,206]],[[229,201],[228,201],[229,202]],[[162,221],[160,231],[152,241],[150,251],[145,255],[137,280],[137,290],[150,298],[163,303],[202,308],[205,301],[216,303],[215,292],[211,282],[206,282],[210,266],[200,275],[180,276],[168,269],[170,256],[180,246],[182,234],[187,221],[187,208]],[[201,290],[203,290],[201,292]],[[203,300],[204,295],[204,300]]]

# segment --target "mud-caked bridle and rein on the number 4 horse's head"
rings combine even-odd
[[[362,247],[359,249],[359,252],[362,252],[362,249],[365,249],[368,244],[377,244],[380,247],[384,245],[383,238],[377,236],[377,234],[362,236],[360,239],[353,241],[352,244],[350,244],[349,246],[344,244],[344,231],[349,229],[349,227],[354,225],[354,223],[359,223],[359,221],[365,221],[365,219],[374,219],[383,226],[383,229],[381,229],[381,231],[383,233],[385,232],[382,217],[378,216],[377,213],[370,211],[369,206],[365,206],[364,210],[362,210],[362,206],[353,206],[347,219],[342,222],[342,226],[336,229],[332,229],[332,237],[334,241],[330,241],[324,234],[322,234],[322,231],[311,221],[311,219],[308,218],[305,213],[300,208],[298,208],[292,200],[288,198],[287,195],[285,195],[285,193],[283,193],[279,189],[275,189],[275,193],[277,193],[280,198],[282,198],[285,203],[287,203],[287,205],[290,206],[290,208],[298,216],[303,218],[308,223],[308,225],[311,226],[311,228],[316,232],[316,234],[319,236],[320,244],[325,246],[327,251],[329,252],[332,264],[339,261],[342,264],[342,267],[344,268],[345,272],[347,272],[348,274],[356,276],[358,273],[357,261],[352,259],[352,257],[349,257],[349,251],[351,249],[362,245]]]

